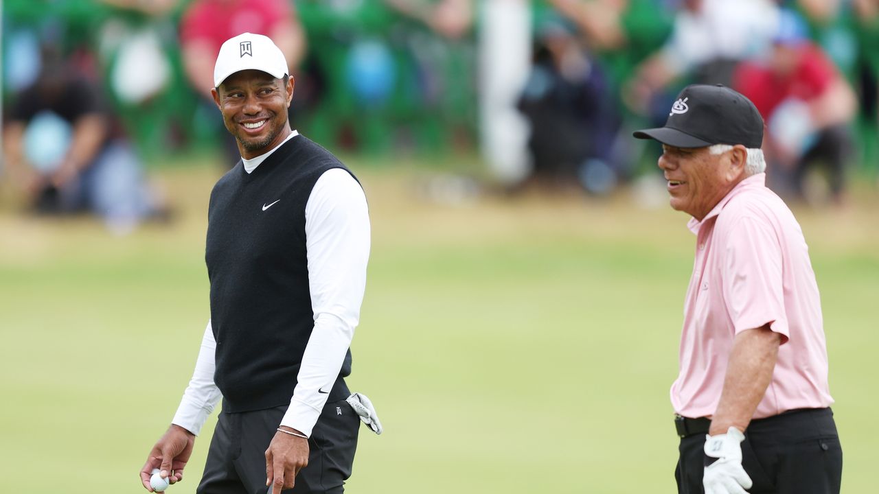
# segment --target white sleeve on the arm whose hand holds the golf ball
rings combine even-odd
[[[214,331],[211,322],[207,321],[205,335],[201,338],[199,358],[195,361],[193,379],[183,392],[183,399],[171,424],[179,425],[195,435],[199,435],[207,417],[220,403],[222,394],[214,384],[214,350],[216,349]]]

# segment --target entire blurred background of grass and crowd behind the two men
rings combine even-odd
[[[4,491],[139,492],[207,321],[210,98],[263,33],[373,251],[352,492],[671,492],[693,262],[660,148],[686,84],[766,120],[822,292],[846,492],[873,490],[879,0],[4,0]],[[194,492],[208,421],[186,480]]]

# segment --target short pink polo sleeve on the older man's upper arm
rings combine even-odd
[[[745,217],[729,230],[723,300],[736,334],[768,323],[781,343],[788,341],[781,263],[781,244],[770,225]]]

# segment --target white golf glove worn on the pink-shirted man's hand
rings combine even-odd
[[[705,440],[705,455],[717,459],[705,467],[705,494],[747,494],[745,489],[751,489],[751,477],[742,468],[744,440],[745,434],[735,427]]]

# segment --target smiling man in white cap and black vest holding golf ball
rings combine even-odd
[[[369,258],[360,183],[289,127],[294,79],[272,40],[227,40],[211,91],[242,160],[207,218],[211,319],[171,427],[141,470],[183,478],[222,398],[199,493],[343,492],[372,404],[345,384]]]

